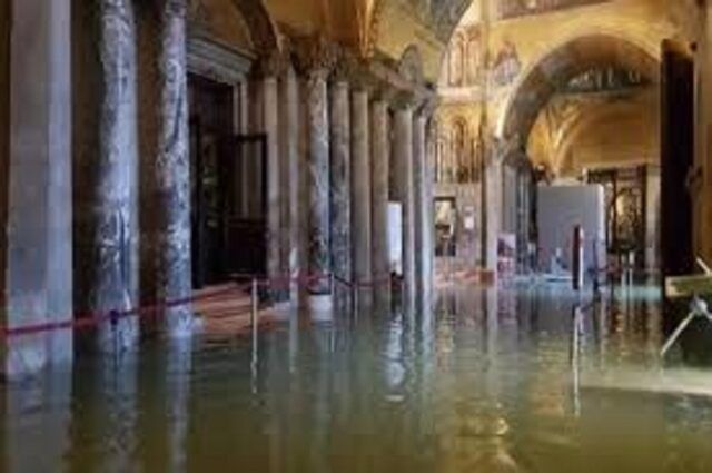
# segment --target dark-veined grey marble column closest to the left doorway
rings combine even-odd
[[[158,156],[154,168],[156,287],[159,300],[176,300],[192,293],[186,0],[160,1],[159,41]],[[169,337],[182,338],[192,333],[190,306],[168,307],[162,315]]]

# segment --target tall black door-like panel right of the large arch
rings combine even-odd
[[[689,52],[663,42],[661,87],[661,257],[662,276],[694,268],[692,197],[694,162],[694,63]]]

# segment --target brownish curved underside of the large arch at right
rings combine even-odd
[[[570,79],[596,66],[615,66],[637,70],[657,82],[659,53],[621,36],[591,33],[553,48],[532,61],[515,83],[500,117],[496,136],[526,139],[540,110]]]

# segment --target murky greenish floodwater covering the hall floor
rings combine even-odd
[[[85,358],[6,386],[0,470],[711,472],[712,371],[684,344],[660,361],[655,292],[574,305],[448,289],[433,313],[293,317],[257,347]]]

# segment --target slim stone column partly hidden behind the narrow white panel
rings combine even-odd
[[[403,105],[395,112],[394,198],[402,205],[403,216],[403,302],[412,308],[415,302],[415,210],[413,201],[413,108]]]

